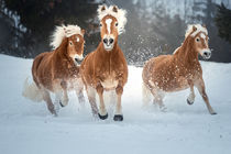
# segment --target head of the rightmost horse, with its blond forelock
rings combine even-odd
[[[208,31],[205,26],[193,26],[193,32],[190,36],[194,38],[194,46],[196,52],[200,54],[205,59],[209,59],[211,57],[211,51],[209,48],[209,37]]]

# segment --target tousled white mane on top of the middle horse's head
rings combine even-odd
[[[125,30],[124,26],[127,24],[127,11],[123,9],[117,9],[117,12],[113,11],[116,6],[99,6],[97,12],[98,12],[98,19],[101,21],[106,15],[112,15],[118,21],[118,32],[119,34],[122,34]]]

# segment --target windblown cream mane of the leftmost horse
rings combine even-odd
[[[61,44],[64,37],[69,37],[72,35],[79,34],[81,36],[81,29],[78,25],[61,25],[56,26],[54,33],[51,36],[51,43],[50,45],[53,47],[53,50],[56,50]]]

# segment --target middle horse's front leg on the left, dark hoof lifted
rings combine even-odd
[[[105,106],[105,100],[103,100],[103,87],[101,84],[99,84],[97,87],[96,87],[96,90],[97,90],[97,94],[99,96],[99,118],[101,120],[106,120],[108,118],[108,113],[106,111],[106,106]]]

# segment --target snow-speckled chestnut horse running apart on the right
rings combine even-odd
[[[144,64],[142,72],[144,107],[150,102],[151,96],[154,96],[153,102],[164,110],[166,109],[163,103],[165,92],[187,88],[190,88],[187,102],[193,105],[195,101],[194,87],[196,87],[209,113],[216,114],[206,94],[202,68],[198,61],[198,54],[205,59],[211,57],[208,40],[208,31],[205,25],[188,25],[184,43],[176,48],[173,55],[160,55]]]

